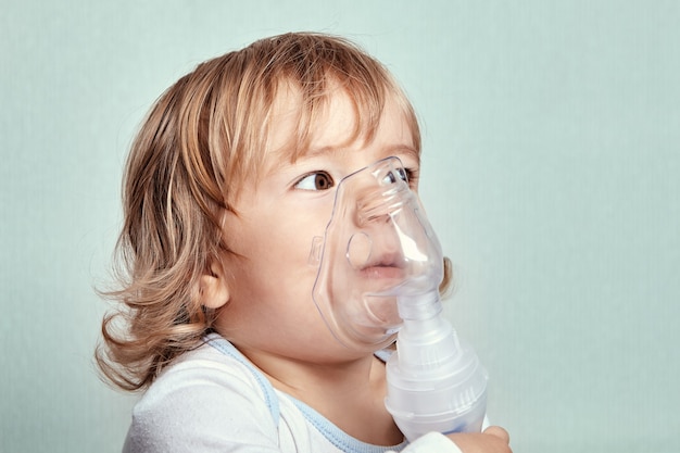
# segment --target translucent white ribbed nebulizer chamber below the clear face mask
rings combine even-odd
[[[400,301],[411,316],[413,305],[427,305],[418,317],[404,318],[396,352],[387,363],[385,404],[406,439],[431,431],[479,432],[487,407],[487,372],[477,354],[458,341],[442,316],[441,302]],[[428,317],[427,315],[431,315]]]

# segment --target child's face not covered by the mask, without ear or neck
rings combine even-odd
[[[232,253],[225,256],[229,302],[215,327],[244,351],[302,361],[337,360],[355,354],[332,337],[312,298],[317,263],[310,263],[314,237],[330,219],[336,187],[345,176],[395,155],[413,175],[419,159],[408,122],[388,100],[375,138],[348,143],[355,114],[341,90],[330,99],[313,130],[310,152],[294,163],[276,152],[297,128],[294,96],[281,96],[274,110],[263,177],[243,188],[224,235]],[[254,179],[254,178],[253,178]]]

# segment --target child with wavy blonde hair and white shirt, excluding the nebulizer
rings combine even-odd
[[[324,35],[256,41],[159,99],[125,174],[109,294],[125,310],[97,351],[109,380],[146,390],[124,451],[509,451],[498,427],[407,445],[383,362],[340,344],[312,301],[337,184],[394,155],[415,190],[419,138],[383,66]]]

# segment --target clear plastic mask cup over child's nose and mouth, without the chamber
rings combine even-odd
[[[351,349],[389,344],[402,325],[400,300],[437,293],[441,247],[398,158],[340,181],[311,260],[319,265],[314,302],[333,336]]]

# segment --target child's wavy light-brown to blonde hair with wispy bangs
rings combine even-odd
[[[389,72],[355,45],[327,35],[259,40],[200,64],[155,102],[125,171],[116,246],[121,289],[104,293],[122,309],[104,317],[96,351],[105,379],[143,389],[201,343],[214,313],[201,305],[199,278],[228,252],[221,218],[232,210],[244,178],[262,171],[278,90],[287,84],[301,95],[298,133],[287,149],[294,161],[306,150],[330,81],[354,103],[355,136],[370,139],[391,97],[419,152],[415,113]]]

